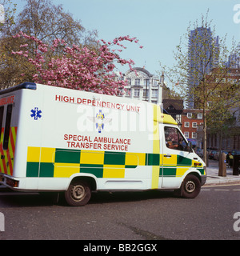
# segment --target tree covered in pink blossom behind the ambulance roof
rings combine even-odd
[[[120,58],[117,52],[126,49],[126,46],[122,45],[123,41],[138,43],[136,38],[124,36],[114,38],[113,42],[100,40],[98,49],[90,50],[87,47],[81,48],[76,45],[67,46],[66,42],[60,39],[55,39],[49,46],[22,31],[14,35],[14,38],[20,37],[34,42],[37,46],[34,50],[34,57],[29,54],[28,43],[22,44],[21,50],[12,52],[12,54],[22,55],[33,64],[34,82],[113,95],[121,94],[122,88],[126,86],[126,81],[115,79],[116,63],[122,66],[128,64],[130,69],[134,65],[133,60]],[[112,50],[112,46],[118,46],[120,49]],[[59,54],[59,49],[61,49],[61,54]]]

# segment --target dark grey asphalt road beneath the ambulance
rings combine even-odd
[[[0,191],[0,240],[238,240],[239,198],[240,185],[204,186],[194,199],[171,191],[102,192],[86,206],[70,207],[49,196]]]

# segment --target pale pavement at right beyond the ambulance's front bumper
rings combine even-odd
[[[206,183],[204,186],[232,183],[240,185],[240,175],[233,175],[233,169],[226,167],[226,177],[218,176],[218,161],[209,160],[209,166],[206,167]]]

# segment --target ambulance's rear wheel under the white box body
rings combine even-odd
[[[72,182],[65,191],[65,199],[70,206],[85,206],[90,198],[90,186],[83,181]]]

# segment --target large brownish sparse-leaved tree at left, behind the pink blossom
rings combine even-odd
[[[8,1],[8,0],[4,0]],[[32,81],[34,65],[27,59],[11,54],[20,45],[28,45],[26,51],[29,58],[36,58],[37,42],[30,38],[13,38],[19,31],[50,44],[59,38],[66,43],[96,48],[97,32],[86,31],[81,22],[74,20],[62,6],[55,6],[50,0],[26,0],[26,6],[14,22],[5,22],[0,31],[0,85],[2,88],[13,86],[24,81]],[[50,54],[50,52],[48,52]],[[51,52],[54,57],[62,54],[62,48]],[[24,76],[23,76],[24,74]]]

